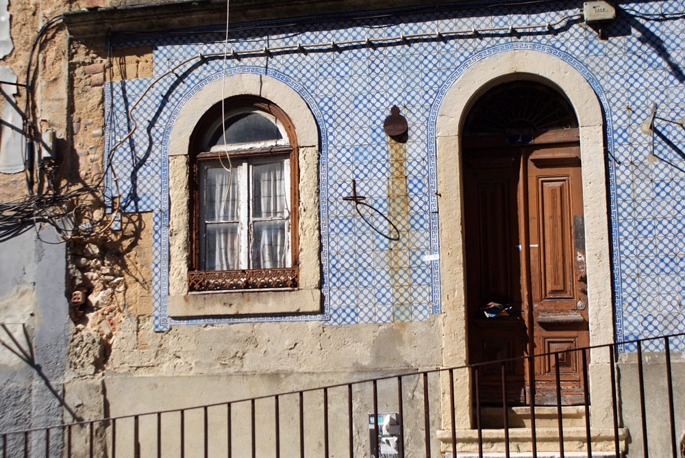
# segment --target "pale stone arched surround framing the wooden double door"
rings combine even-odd
[[[588,307],[590,344],[613,342],[613,308],[603,116],[593,88],[583,75],[560,58],[529,49],[510,49],[471,64],[460,73],[436,110],[436,162],[438,173],[438,222],[440,225],[440,277],[443,308],[443,365],[468,363],[466,325],[466,282],[464,277],[464,231],[462,196],[462,136],[466,114],[488,89],[506,81],[538,81],[553,86],[573,105],[579,121],[583,162],[583,194],[588,259]],[[595,418],[610,406],[611,390],[606,380],[609,357],[606,352],[591,355],[591,400]],[[471,411],[472,387],[468,377],[455,381],[456,408]],[[447,391],[445,391],[447,392]],[[449,400],[443,400],[443,418],[449,426]],[[607,422],[609,420],[607,419]],[[470,429],[469,416],[458,416],[458,429]],[[600,426],[598,424],[598,426]],[[610,424],[607,423],[607,427]]]

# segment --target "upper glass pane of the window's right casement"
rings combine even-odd
[[[285,160],[252,166],[252,216],[286,216]]]

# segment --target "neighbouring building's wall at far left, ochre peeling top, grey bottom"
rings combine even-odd
[[[49,18],[67,7],[66,1],[0,2],[0,66],[3,81],[23,85],[29,67],[29,53],[38,30]],[[12,235],[12,222],[18,216],[12,205],[21,206],[30,194],[45,192],[46,199],[36,199],[35,207],[51,206],[49,196],[55,181],[47,170],[66,154],[66,55],[67,35],[60,27],[49,28],[42,36],[41,51],[34,54],[31,71],[32,92],[24,86],[3,84],[3,92],[16,103],[8,110],[9,100],[0,97],[3,107],[3,133],[0,156],[0,340],[20,353],[18,356],[0,346],[0,430],[37,428],[60,424],[64,408],[64,379],[69,345],[69,306],[66,300],[66,244],[55,230],[40,222],[40,234],[32,224]],[[27,97],[34,101],[30,113],[24,112]],[[27,187],[24,166],[25,136],[21,132],[23,116],[29,116],[38,132],[54,129],[56,142],[63,153],[57,163],[34,175],[36,186]],[[9,124],[19,128],[11,133]],[[40,135],[40,133],[38,133]],[[9,140],[13,136],[13,140]],[[18,157],[16,168],[5,168],[5,159]],[[59,175],[59,174],[58,174]],[[29,205],[31,208],[32,205]],[[55,210],[58,211],[58,210]],[[12,215],[14,214],[14,218]],[[24,215],[24,217],[29,215]],[[16,342],[12,341],[16,339]],[[22,352],[26,352],[23,355]],[[32,353],[33,352],[33,353]],[[61,453],[62,437],[53,431],[51,456]],[[23,437],[10,437],[8,456],[23,454]],[[45,435],[29,437],[29,447],[36,455],[45,455]]]

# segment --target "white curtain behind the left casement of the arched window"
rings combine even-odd
[[[204,253],[205,270],[239,268],[238,180],[234,170],[226,170],[219,162],[204,167]],[[236,174],[237,175],[237,174]],[[203,248],[203,249],[202,249]]]

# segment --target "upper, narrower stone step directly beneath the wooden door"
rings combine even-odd
[[[530,428],[530,407],[509,407],[508,418],[510,428]],[[540,428],[558,427],[558,411],[556,407],[536,407],[535,426]],[[564,429],[585,427],[584,406],[562,407]],[[483,407],[481,409],[481,427],[483,429],[501,429],[504,427],[501,407]]]

